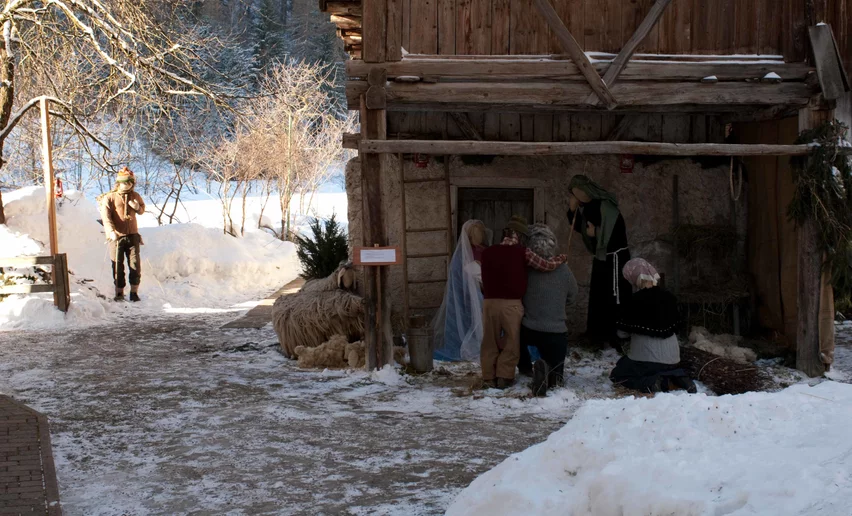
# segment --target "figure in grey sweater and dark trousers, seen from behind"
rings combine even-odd
[[[529,228],[529,248],[542,258],[556,255],[556,235],[545,224]],[[566,264],[553,272],[527,270],[524,318],[521,321],[522,373],[532,373],[532,391],[547,394],[548,387],[560,387],[565,381],[565,355],[568,351],[567,307],[577,299],[577,280]],[[531,363],[528,347],[535,347],[541,359]]]

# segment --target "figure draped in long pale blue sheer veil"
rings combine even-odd
[[[479,264],[489,244],[490,234],[482,221],[464,223],[450,261],[444,300],[432,321],[435,360],[479,360],[483,331]]]

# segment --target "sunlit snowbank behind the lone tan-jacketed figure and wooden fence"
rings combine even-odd
[[[3,195],[0,257],[48,254],[44,189]],[[112,271],[100,214],[93,200],[68,192],[57,206],[59,251],[68,255],[71,308],[53,307],[51,294],[11,296],[0,302],[0,329],[56,328],[106,322],[120,314],[222,310],[258,299],[299,273],[295,248],[260,231],[243,238],[198,224],[142,227],[142,303],[114,303]],[[220,226],[221,228],[221,226]]]

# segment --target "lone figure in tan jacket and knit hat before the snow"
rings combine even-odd
[[[130,300],[139,301],[139,283],[142,279],[142,237],[136,224],[136,215],[145,213],[145,201],[134,190],[136,176],[124,167],[118,172],[115,187],[101,198],[101,218],[109,243],[112,260],[112,279],[115,283],[115,300],[124,301],[126,286],[124,260],[130,268]]]

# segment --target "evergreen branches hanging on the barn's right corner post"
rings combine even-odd
[[[838,152],[848,147],[847,127],[837,120],[802,132],[798,144],[812,144],[808,156],[791,158],[796,192],[787,208],[801,225],[815,222],[824,267],[831,273],[839,297],[852,292],[852,162]]]

